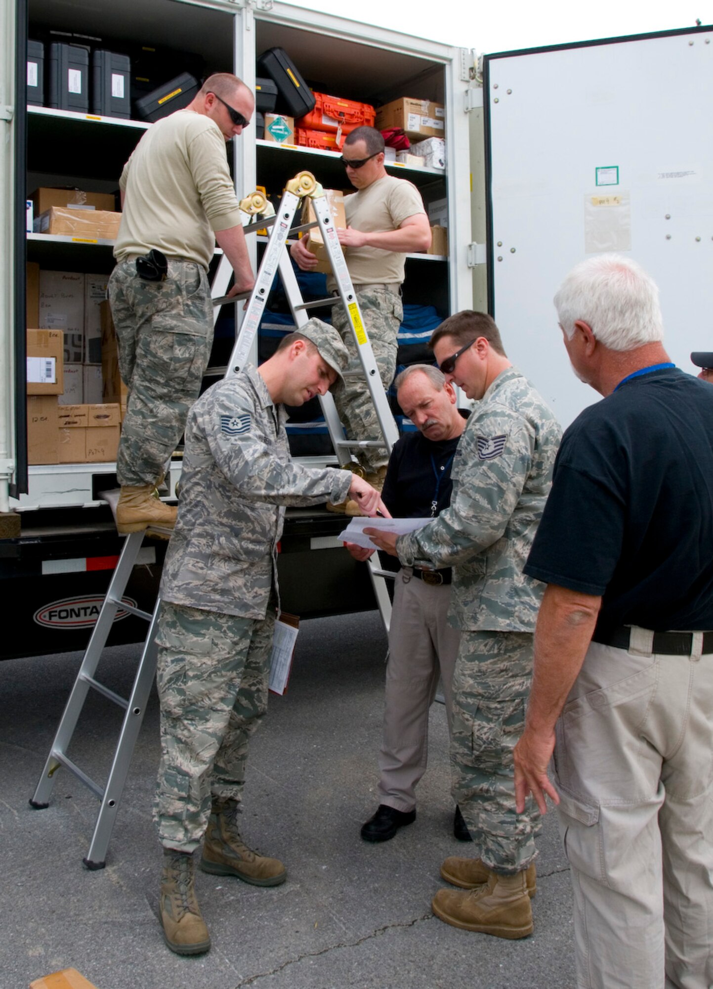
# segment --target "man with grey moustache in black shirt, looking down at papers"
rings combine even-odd
[[[395,382],[398,402],[415,426],[395,444],[382,500],[394,517],[435,518],[450,504],[450,467],[466,418],[455,392],[437,368],[414,364]],[[373,550],[348,544],[357,560]],[[389,558],[389,562],[390,558]],[[383,741],[379,754],[379,806],[361,828],[367,842],[385,842],[416,818],[416,785],[426,771],[429,708],[438,676],[450,730],[451,680],[460,633],[448,624],[450,569],[399,569],[389,631]],[[456,838],[470,836],[456,807]]]

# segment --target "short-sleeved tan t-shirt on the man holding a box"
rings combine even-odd
[[[345,197],[347,225],[371,233],[397,230],[409,217],[426,213],[421,193],[407,179],[385,175]],[[406,254],[381,247],[349,247],[347,266],[353,285],[397,284],[404,280]],[[335,287],[328,280],[330,291]],[[336,283],[335,283],[336,284]]]

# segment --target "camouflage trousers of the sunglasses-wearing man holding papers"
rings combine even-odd
[[[532,642],[527,632],[463,631],[453,674],[453,797],[474,857],[506,874],[533,860],[541,827],[531,797],[524,813],[515,811],[513,750],[524,729]]]

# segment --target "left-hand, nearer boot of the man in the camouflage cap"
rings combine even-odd
[[[192,854],[164,850],[159,919],[163,940],[177,954],[202,954],[210,947],[196,899]]]

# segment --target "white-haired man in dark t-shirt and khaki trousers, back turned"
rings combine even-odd
[[[604,398],[565,432],[524,566],[547,588],[518,805],[559,805],[578,987],[708,989],[713,390],[670,362],[658,289],[629,259],[585,261],[555,306]]]

